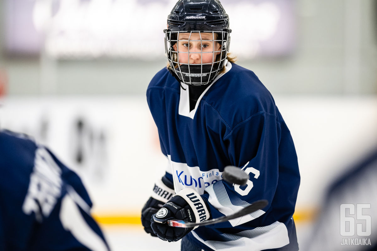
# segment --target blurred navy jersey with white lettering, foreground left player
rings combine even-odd
[[[80,178],[47,148],[0,131],[0,251],[109,250]]]

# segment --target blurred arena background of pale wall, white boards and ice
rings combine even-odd
[[[139,220],[167,163],[145,93],[166,65],[175,2],[0,2],[0,128],[32,135],[80,174],[113,250],[179,249]],[[271,91],[293,136],[304,243],[331,181],[377,147],[377,3],[221,3],[231,52]]]

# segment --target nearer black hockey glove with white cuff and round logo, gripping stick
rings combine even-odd
[[[210,212],[199,193],[186,188],[166,202],[156,214],[153,214],[151,227],[161,240],[169,242],[180,240],[193,230],[193,228],[170,227],[166,224],[170,219],[201,222],[210,219]]]

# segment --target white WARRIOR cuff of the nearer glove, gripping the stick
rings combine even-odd
[[[206,221],[210,218],[210,212],[207,208],[207,205],[205,204],[204,199],[194,189],[182,189],[181,191],[179,191],[179,193],[177,193],[174,196],[182,197],[187,202],[187,204],[190,205],[195,215],[196,223]]]

